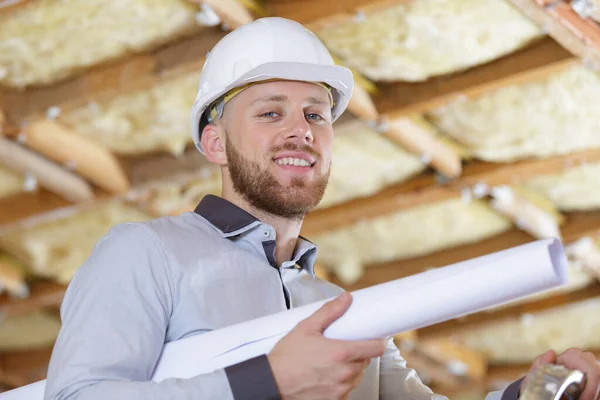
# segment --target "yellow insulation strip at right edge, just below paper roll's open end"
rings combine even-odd
[[[489,323],[453,336],[492,363],[528,363],[548,349],[600,347],[600,299],[571,304],[520,319]]]

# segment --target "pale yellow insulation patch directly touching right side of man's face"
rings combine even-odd
[[[320,208],[373,195],[426,168],[418,157],[364,122],[336,126],[335,135],[329,184]]]

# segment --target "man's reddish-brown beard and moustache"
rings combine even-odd
[[[275,153],[281,150],[304,151],[319,159],[318,154],[308,146],[288,142],[272,151]],[[286,219],[300,220],[323,198],[329,170],[314,183],[294,177],[288,186],[284,186],[268,168],[261,168],[258,163],[244,158],[231,141],[228,141],[225,151],[234,190],[258,210]]]

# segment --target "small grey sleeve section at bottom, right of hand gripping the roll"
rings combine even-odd
[[[394,344],[388,339],[388,347],[381,356],[379,366],[379,399],[380,400],[448,400],[434,394],[414,369],[407,368],[406,360]]]

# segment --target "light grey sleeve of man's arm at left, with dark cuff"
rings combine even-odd
[[[230,380],[240,392],[240,382],[270,374],[259,357],[229,371],[151,381],[173,307],[168,271],[162,243],[143,224],[118,225],[98,241],[65,294],[45,400],[228,400]]]

